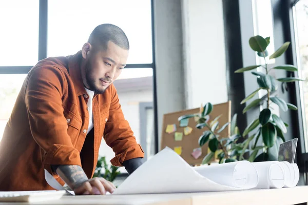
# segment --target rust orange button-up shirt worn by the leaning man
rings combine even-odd
[[[102,138],[114,166],[144,157],[111,84],[94,95],[94,128],[87,134],[88,95],[81,52],[39,61],[28,73],[0,142],[0,191],[51,190],[44,169],[64,185],[51,165],[79,165],[88,178],[97,165]]]

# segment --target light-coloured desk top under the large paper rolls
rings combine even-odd
[[[245,190],[206,193],[136,194],[63,196],[60,200],[31,204],[147,204],[147,205],[204,205],[204,204],[297,204],[308,201],[308,186],[295,188]],[[23,204],[23,203],[0,203]],[[27,204],[27,203],[24,203]]]

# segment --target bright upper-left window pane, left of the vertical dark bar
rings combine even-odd
[[[0,66],[32,66],[38,56],[38,1],[0,1]]]

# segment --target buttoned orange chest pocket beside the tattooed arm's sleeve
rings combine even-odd
[[[64,111],[64,116],[67,122],[67,134],[70,136],[72,144],[74,145],[75,140],[77,139],[80,133],[82,127],[82,121],[78,116],[76,116],[69,110]]]

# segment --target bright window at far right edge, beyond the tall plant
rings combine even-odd
[[[299,77],[308,80],[308,1],[301,0],[293,8],[296,32],[297,65]],[[308,82],[299,82],[302,118],[304,125],[305,152],[308,151]]]

